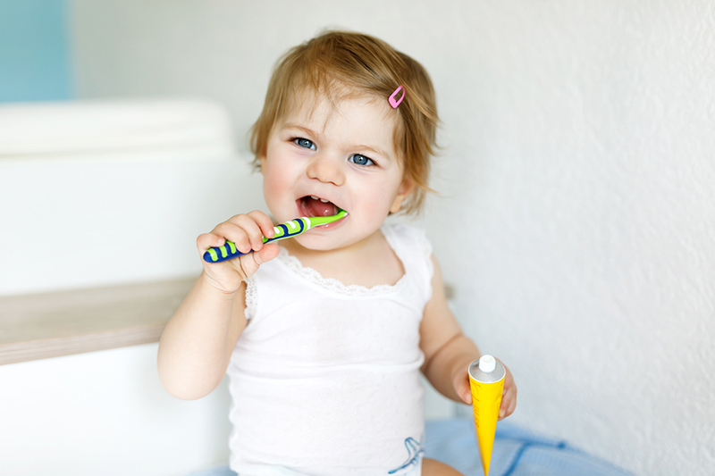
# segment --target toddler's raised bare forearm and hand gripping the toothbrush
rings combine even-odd
[[[173,397],[206,397],[221,383],[231,352],[246,328],[245,280],[278,255],[278,246],[265,245],[273,222],[261,212],[236,215],[197,239],[199,255],[229,240],[243,255],[221,263],[203,262],[198,277],[159,340],[159,379]]]

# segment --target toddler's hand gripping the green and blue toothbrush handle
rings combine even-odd
[[[206,278],[215,288],[228,294],[235,293],[241,282],[258,271],[261,264],[278,255],[278,245],[263,242],[263,237],[273,238],[273,235],[273,221],[259,210],[231,217],[217,225],[211,233],[200,235],[196,245],[198,254],[202,256]],[[226,241],[232,241],[241,253],[254,252],[220,263],[206,263],[203,259],[206,250],[223,246]]]

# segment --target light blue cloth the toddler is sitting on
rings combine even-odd
[[[475,443],[474,422],[465,419],[427,422],[425,455],[450,464],[465,476],[484,476]],[[632,476],[559,439],[544,438],[508,421],[497,424],[490,476]],[[220,466],[190,476],[236,476]]]

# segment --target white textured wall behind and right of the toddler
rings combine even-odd
[[[425,215],[515,422],[637,474],[715,465],[715,6],[608,0],[73,3],[80,96],[192,95],[242,135],[325,26],[431,71]],[[240,136],[242,137],[242,136]]]

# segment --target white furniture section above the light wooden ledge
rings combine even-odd
[[[0,296],[198,275],[260,187],[233,143],[206,101],[0,104]]]

